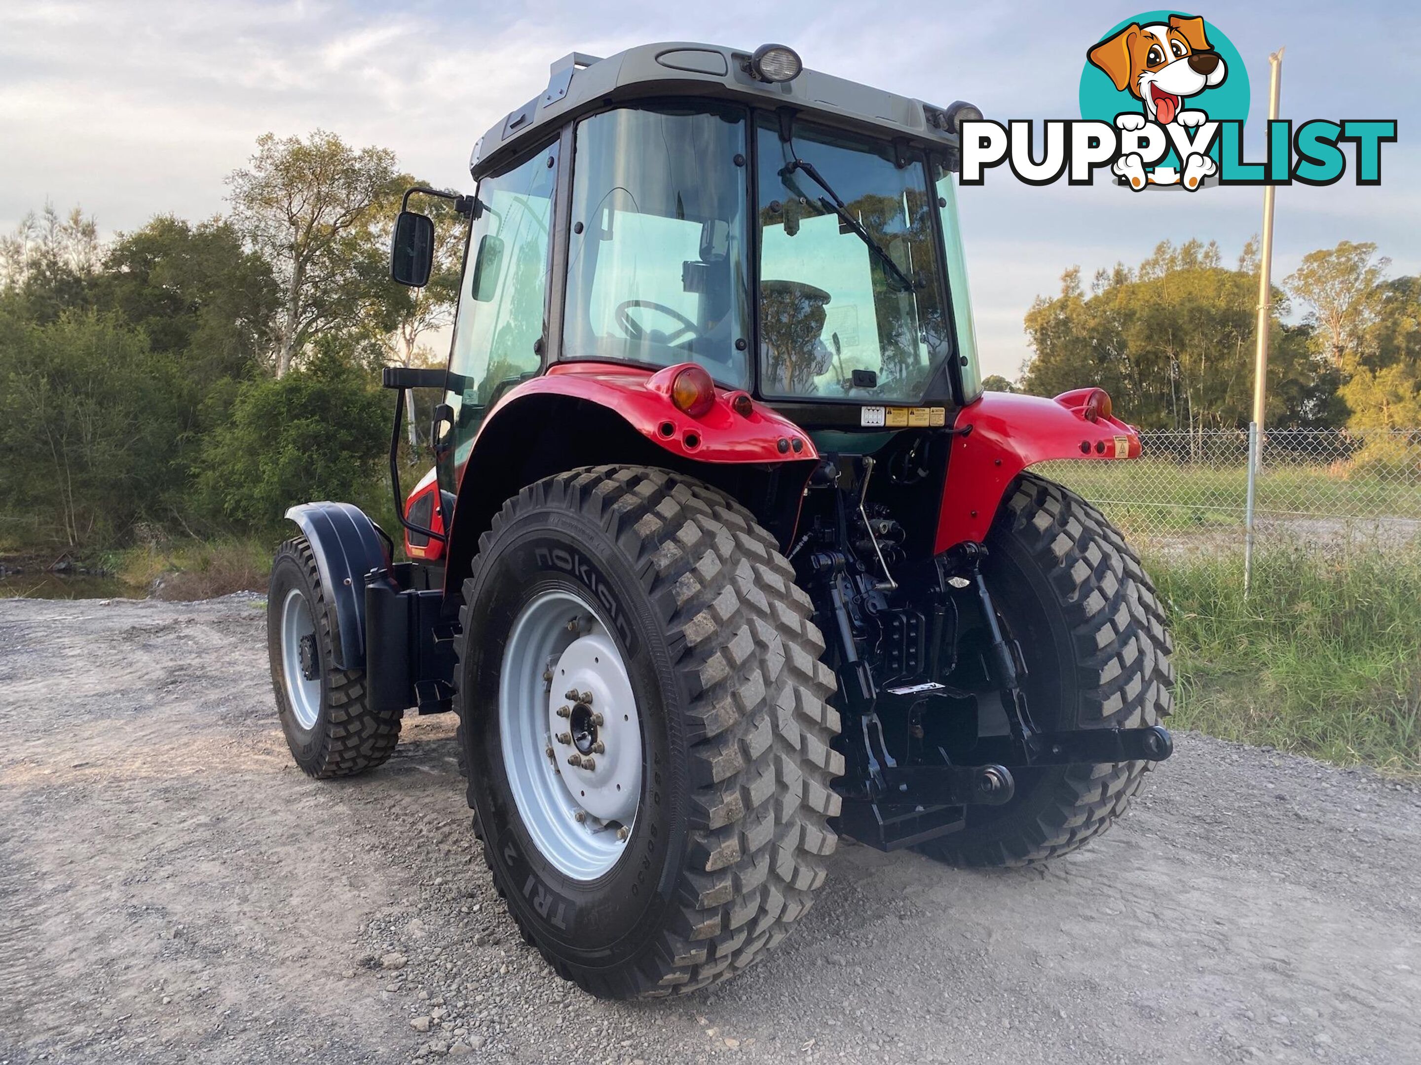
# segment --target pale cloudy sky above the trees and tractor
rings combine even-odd
[[[401,4],[298,0],[0,0],[0,231],[51,202],[101,231],[156,213],[226,209],[225,178],[256,138],[315,128],[381,145],[423,180],[470,190],[473,142],[547,84],[570,51],[649,41],[796,48],[807,67],[989,118],[1077,118],[1084,54],[1120,3],[742,3],[544,0]],[[1268,54],[1286,45],[1282,118],[1394,118],[1383,180],[1277,190],[1273,277],[1307,251],[1370,240],[1391,273],[1421,273],[1421,149],[1403,104],[1421,99],[1421,6],[1221,4],[1188,10],[1222,28],[1252,85],[1245,158],[1262,153]],[[1022,318],[1061,271],[1088,278],[1160,240],[1216,240],[1226,263],[1260,229],[1262,190],[1131,193],[1017,183],[1000,168],[959,196],[985,371],[1015,378]]]

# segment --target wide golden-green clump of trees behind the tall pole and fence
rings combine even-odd
[[[1098,271],[1087,295],[1080,270],[1026,315],[1034,356],[1022,386],[1036,395],[1098,385],[1128,420],[1151,429],[1248,425],[1253,395],[1258,275],[1222,266],[1214,244],[1161,243],[1131,270]],[[1275,311],[1287,301],[1275,295]],[[1336,416],[1334,381],[1309,351],[1310,329],[1275,320],[1269,344],[1269,422],[1316,425]],[[1280,389],[1289,382],[1287,389]]]

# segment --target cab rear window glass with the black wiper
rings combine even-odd
[[[952,354],[925,159],[773,115],[757,138],[762,393],[917,403]]]

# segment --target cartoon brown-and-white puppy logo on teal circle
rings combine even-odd
[[[1150,186],[1194,192],[1209,183],[1205,179],[1219,169],[1216,151],[1209,151],[1214,142],[1209,121],[1242,119],[1246,115],[1248,75],[1236,57],[1233,45],[1204,18],[1167,11],[1135,16],[1087,48],[1081,78],[1083,115],[1094,118],[1101,106],[1108,106],[1115,114],[1098,116],[1125,132],[1142,131],[1147,122],[1152,122],[1167,133],[1174,125],[1181,128],[1175,132],[1204,135],[1194,138],[1198,149],[1191,145],[1179,155],[1171,152],[1168,159],[1161,160],[1164,165],[1152,169],[1138,151],[1123,151],[1111,168],[1121,183],[1135,192]],[[1101,84],[1096,88],[1088,81],[1094,77],[1103,82],[1100,74],[1110,80],[1108,87]],[[1231,82],[1242,82],[1243,114],[1238,114],[1239,94],[1232,91],[1235,84]],[[1094,104],[1091,111],[1097,114],[1087,114],[1087,89]],[[1206,91],[1209,111],[1201,99]],[[1111,101],[1103,97],[1111,97]],[[1181,139],[1171,135],[1169,142],[1179,143]],[[1184,143],[1191,142],[1185,139]]]

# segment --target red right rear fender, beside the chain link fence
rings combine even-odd
[[[934,552],[985,540],[1006,487],[1033,463],[1113,462],[1140,454],[1134,426],[1114,417],[1086,419],[1090,390],[1054,399],[985,392],[958,412]]]

